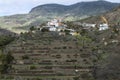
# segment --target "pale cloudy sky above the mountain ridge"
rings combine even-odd
[[[97,1],[97,0],[0,0],[0,16],[25,14],[33,7],[42,4],[58,3],[71,5],[77,2]],[[107,0],[120,3],[120,0]]]

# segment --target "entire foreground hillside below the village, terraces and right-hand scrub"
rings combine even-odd
[[[119,30],[120,31],[120,30]],[[4,49],[14,57],[0,79],[119,80],[120,32],[85,31],[80,36],[56,32],[21,34]]]

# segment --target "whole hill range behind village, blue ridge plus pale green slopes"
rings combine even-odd
[[[38,26],[53,18],[64,17],[73,21],[90,15],[98,15],[117,7],[118,3],[107,1],[80,2],[73,5],[46,4],[31,9],[28,14],[0,17],[0,26],[17,33],[25,32],[31,26]]]

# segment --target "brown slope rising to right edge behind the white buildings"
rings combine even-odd
[[[111,26],[120,25],[120,14],[119,13],[120,13],[120,7],[115,8],[114,10],[109,11],[99,16],[92,16],[92,17],[83,19],[80,22],[102,23],[101,16],[104,16],[107,19],[109,25]]]

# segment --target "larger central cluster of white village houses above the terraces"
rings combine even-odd
[[[46,26],[42,26],[40,31],[48,30],[50,32],[58,32],[59,35],[70,34],[72,36],[79,35],[79,33],[74,29],[67,28],[66,24],[62,23],[62,19],[53,19],[49,21]]]

